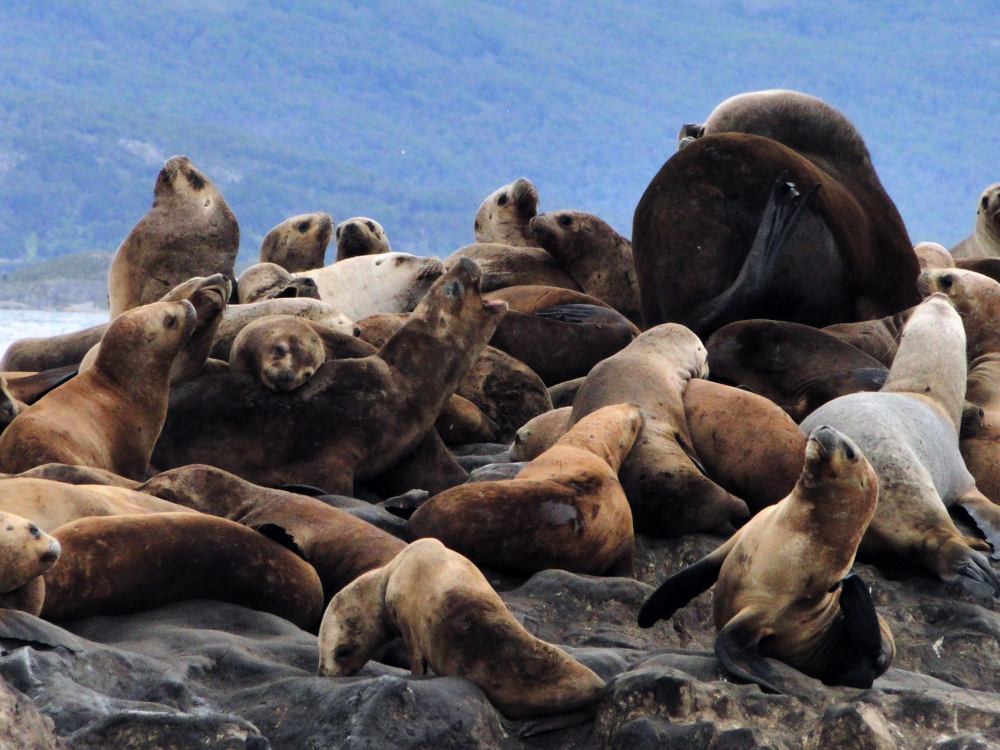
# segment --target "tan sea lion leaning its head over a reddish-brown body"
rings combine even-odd
[[[618,472],[639,533],[728,536],[734,521],[750,513],[745,502],[704,475],[691,446],[684,389],[690,379],[707,375],[707,353],[698,337],[667,323],[596,365],[573,401],[574,425],[610,404],[634,402],[645,409],[642,432]]]

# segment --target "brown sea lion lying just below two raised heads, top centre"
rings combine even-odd
[[[583,291],[576,279],[539,247],[494,243],[466,245],[444,259],[445,268],[451,268],[459,258],[471,258],[482,266],[484,292],[532,285]]]

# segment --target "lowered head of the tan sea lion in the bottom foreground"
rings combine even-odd
[[[392,640],[385,609],[385,568],[356,578],[330,600],[319,629],[319,674],[349,677]]]

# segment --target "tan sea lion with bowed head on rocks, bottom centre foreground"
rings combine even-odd
[[[471,562],[436,539],[413,542],[330,602],[319,629],[319,674],[356,674],[401,635],[411,670],[478,685],[508,719],[592,706],[604,681],[531,635]]]

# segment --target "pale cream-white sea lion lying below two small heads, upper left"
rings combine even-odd
[[[320,299],[351,320],[390,312],[410,312],[445,271],[438,258],[384,253],[348,258],[297,274],[319,287]]]

